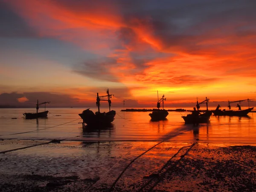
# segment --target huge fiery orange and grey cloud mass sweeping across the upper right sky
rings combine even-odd
[[[120,83],[134,94],[136,87],[188,93],[190,86],[212,88],[215,96],[217,85],[232,94],[236,79],[246,84],[244,95],[255,87],[253,0],[4,2],[9,20],[20,25],[16,36],[58,39],[91,53],[71,70],[94,81]]]

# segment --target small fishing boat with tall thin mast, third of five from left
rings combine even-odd
[[[166,119],[166,116],[168,116],[169,113],[168,113],[167,110],[160,109],[160,103],[162,102],[162,105],[163,105],[163,101],[164,100],[166,101],[166,98],[164,98],[164,95],[159,100],[159,98],[158,98],[158,91],[157,91],[157,108],[158,109],[153,109],[152,113],[148,114],[151,117],[152,121],[163,120],[163,119]]]

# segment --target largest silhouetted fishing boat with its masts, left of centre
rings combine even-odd
[[[107,95],[105,96],[99,96],[99,93],[97,93],[96,98],[96,105],[98,106],[98,111],[96,113],[93,113],[93,111],[89,109],[84,110],[82,113],[79,114],[79,116],[83,119],[83,127],[84,123],[88,126],[95,126],[95,125],[101,125],[101,126],[108,126],[111,125],[111,122],[115,119],[116,111],[111,110],[111,100],[112,94],[109,94],[109,91],[107,90]],[[101,99],[102,97],[108,97],[108,100]],[[100,101],[108,101],[109,105],[109,111],[107,113],[100,112]]]

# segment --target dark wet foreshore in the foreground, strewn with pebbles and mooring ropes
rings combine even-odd
[[[1,140],[0,151],[45,142]],[[254,146],[163,142],[134,160],[157,143],[62,141],[1,153],[0,191],[256,191]]]

